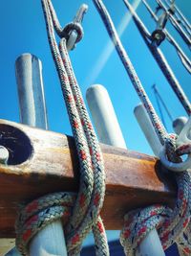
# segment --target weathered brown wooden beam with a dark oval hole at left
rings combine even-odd
[[[0,120],[0,145],[10,151],[0,165],[0,238],[13,238],[19,205],[58,191],[78,189],[79,165],[73,137]],[[173,206],[176,184],[153,156],[101,145],[106,196],[101,216],[120,229],[129,210],[153,203]]]

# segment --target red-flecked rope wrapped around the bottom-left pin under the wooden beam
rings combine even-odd
[[[27,256],[32,238],[47,224],[62,218],[64,223],[69,221],[75,194],[60,192],[32,200],[19,211],[15,223],[16,246],[21,255]]]

